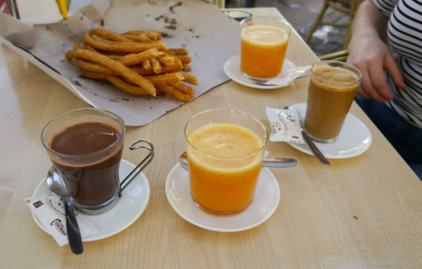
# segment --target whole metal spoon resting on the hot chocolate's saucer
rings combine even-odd
[[[49,173],[47,173],[46,183],[51,192],[60,196],[65,204],[66,227],[68,228],[70,250],[74,254],[82,254],[82,252],[84,252],[84,246],[82,244],[82,237],[79,232],[79,225],[77,225],[75,212],[73,211],[72,201],[70,200],[65,182],[63,182],[60,174],[53,166],[51,166]]]

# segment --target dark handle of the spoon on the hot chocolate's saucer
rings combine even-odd
[[[63,200],[65,202],[66,227],[68,227],[70,250],[74,254],[82,254],[84,252],[84,245],[82,244],[81,232],[79,231],[79,225],[77,225],[75,211],[73,211],[72,203],[68,197]]]

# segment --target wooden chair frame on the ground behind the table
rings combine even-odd
[[[352,20],[360,4],[360,1],[361,0],[324,0],[324,4],[322,5],[321,11],[319,11],[319,15],[318,17],[316,17],[314,25],[312,25],[312,28],[309,31],[309,34],[307,35],[306,42],[309,44],[309,41],[311,41],[312,35],[314,35],[316,28],[319,27],[320,25],[331,25],[333,27],[346,27],[347,34],[345,37],[343,49],[347,49],[347,46],[350,42],[350,30],[352,27]],[[350,16],[349,23],[338,24],[338,23],[331,23],[331,22],[324,21],[323,18],[328,7],[334,8],[335,10],[341,11],[343,13],[347,13]]]

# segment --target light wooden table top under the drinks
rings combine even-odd
[[[280,15],[253,8],[254,15]],[[297,33],[287,57],[296,65],[317,61]],[[151,187],[146,210],[113,237],[71,254],[32,220],[24,199],[51,165],[40,142],[54,116],[86,107],[21,56],[0,49],[0,267],[1,268],[421,268],[422,182],[353,104],[373,144],[360,156],[321,165],[283,142],[271,156],[297,158],[295,168],[271,168],[281,201],[265,223],[243,232],[212,232],[181,218],[165,196],[167,174],[185,150],[188,118],[207,108],[236,108],[264,120],[265,106],[305,102],[308,80],[282,89],[252,89],[229,81],[143,127],[128,127],[126,144],[151,140],[155,159],[144,171]],[[137,163],[142,153],[124,152]]]

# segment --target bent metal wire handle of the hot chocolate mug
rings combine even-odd
[[[136,165],[136,167],[129,173],[129,175],[124,177],[124,180],[120,183],[119,186],[119,197],[122,197],[124,188],[126,188],[127,185],[129,185],[135,179],[135,177],[139,175],[139,173],[141,173],[142,170],[145,169],[149,163],[151,163],[151,161],[153,161],[154,158],[154,146],[151,142],[145,139],[139,139],[133,142],[130,144],[129,149],[131,151],[136,149],[146,149],[149,151],[149,154],[143,158],[143,160],[138,165]]]

